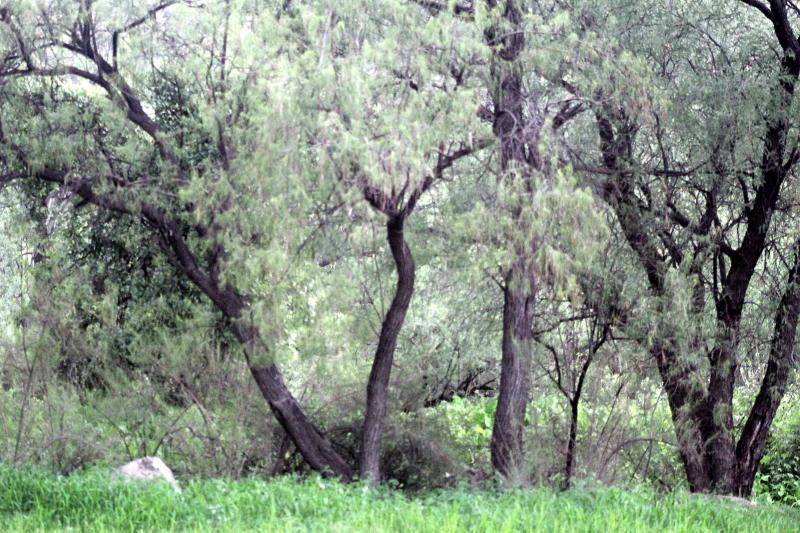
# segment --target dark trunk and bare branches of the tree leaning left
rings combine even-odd
[[[148,16],[152,14],[154,12]],[[7,25],[13,24],[8,13],[2,18],[2,22]],[[43,69],[33,62],[30,55],[23,53],[25,69],[20,71],[19,75],[45,77],[72,75],[100,87],[111,101],[121,107],[127,120],[152,140],[165,168],[174,173],[175,183],[178,186],[185,184],[187,176],[181,169],[179,158],[173,151],[168,138],[148,114],[146,106],[135,89],[127,83],[117,69],[118,34],[113,35],[113,57],[111,61],[108,61],[97,46],[99,39],[96,38],[96,33],[97,28],[91,10],[89,8],[81,10],[73,31],[63,43],[59,44],[83,59],[81,67],[65,66],[63,69],[57,70]],[[60,42],[60,39],[56,41]],[[20,40],[19,46],[25,52],[25,43]],[[84,70],[84,64],[91,64],[93,68]],[[21,160],[27,159],[25,154],[19,155]],[[226,154],[220,155],[223,159],[227,159]],[[223,166],[227,166],[227,164],[224,163]],[[198,235],[205,238],[212,245],[211,249],[214,250],[208,255],[206,261],[202,261],[187,244],[184,232],[188,233],[190,230],[181,223],[179,217],[169,214],[158,205],[148,203],[145,199],[137,202],[135,196],[131,197],[130,194],[126,201],[121,201],[119,196],[114,193],[98,194],[93,189],[90,178],[75,179],[71,177],[67,179],[67,175],[68,172],[64,169],[51,169],[36,172],[34,177],[68,187],[73,194],[82,199],[83,203],[92,203],[99,208],[122,215],[139,217],[150,228],[162,251],[175,267],[189,278],[231,321],[234,325],[234,332],[246,353],[253,354],[264,349],[259,342],[256,328],[245,327],[241,323],[243,310],[246,307],[244,297],[235,288],[220,285],[218,260],[224,256],[225,250],[223,243],[218,242],[215,237],[217,232],[213,224],[204,226],[198,223],[192,228]],[[129,187],[131,185],[129,182],[112,177],[95,176],[95,178],[105,178],[115,187],[131,189],[132,194],[135,194],[136,183],[133,184],[133,187]],[[185,207],[185,209],[191,211],[191,207]],[[332,474],[342,479],[349,478],[350,468],[305,416],[302,407],[284,384],[278,368],[271,365],[266,368],[251,368],[251,371],[279,423],[294,440],[308,464],[326,474]]]

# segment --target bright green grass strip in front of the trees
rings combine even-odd
[[[800,532],[800,513],[788,507],[646,490],[408,496],[319,478],[207,480],[183,489],[102,472],[65,478],[0,467],[0,531]]]

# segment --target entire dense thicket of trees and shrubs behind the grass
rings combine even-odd
[[[0,459],[102,419],[187,472],[749,495],[797,446],[799,18],[0,5]]]

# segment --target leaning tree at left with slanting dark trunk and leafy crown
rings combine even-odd
[[[80,160],[72,159],[74,154],[68,155],[68,161],[59,161],[58,157],[48,157],[48,154],[31,153],[30,145],[18,143],[13,136],[9,136],[20,135],[19,131],[15,131],[4,135],[2,139],[6,148],[3,181],[32,177],[56,184],[79,198],[83,204],[90,203],[117,215],[139,218],[162,252],[231,322],[233,333],[245,349],[250,371],[262,395],[306,461],[320,471],[349,478],[351,467],[308,419],[284,384],[278,367],[274,363],[263,364],[264,358],[260,355],[266,344],[260,338],[258,327],[243,320],[248,307],[247,298],[239,289],[221,279],[222,258],[227,250],[223,242],[223,228],[216,219],[224,215],[229,206],[223,200],[210,212],[204,213],[205,220],[190,224],[187,218],[196,219],[199,215],[197,206],[176,202],[165,205],[153,197],[152,193],[159,188],[164,188],[168,194],[176,194],[189,185],[191,176],[182,167],[181,156],[176,152],[173,140],[151,117],[140,92],[127,81],[120,64],[120,42],[130,32],[156,20],[159,13],[173,4],[156,4],[142,15],[128,16],[121,25],[110,27],[102,26],[97,6],[89,3],[80,3],[75,11],[65,8],[63,12],[44,10],[18,13],[12,8],[3,8],[2,20],[7,34],[15,41],[15,46],[5,55],[5,79],[70,77],[98,87],[113,104],[105,110],[108,113],[105,117],[106,126],[123,131],[127,129],[129,138],[136,139],[137,133],[130,131],[130,127],[133,127],[149,139],[158,158],[156,168],[152,169],[158,172],[156,176],[144,174],[150,169],[135,167],[128,169],[129,175],[120,176],[116,171],[123,158],[119,157],[118,151],[112,152],[107,158],[91,153],[91,148],[96,148],[97,154],[102,154],[102,142],[86,147],[90,152],[89,159],[81,164]],[[229,16],[230,12],[226,12],[224,20],[227,21]],[[66,39],[62,36],[66,36]],[[225,100],[226,104],[229,101],[225,90],[232,86],[225,83],[226,74],[232,68],[227,63],[227,39],[225,29],[221,36],[222,43],[214,45],[209,54],[214,79],[209,80],[211,86],[208,87],[212,98]],[[40,47],[40,43],[45,45]],[[53,55],[48,55],[49,51]],[[88,65],[89,69],[83,68],[83,65]],[[8,105],[8,95],[5,101]],[[238,107],[231,107],[216,124],[219,130],[219,163],[211,165],[209,177],[215,177],[217,173],[224,175],[230,169],[230,147],[225,130],[238,125],[237,121],[243,118],[241,107],[245,105],[241,93],[233,95],[231,101],[236,102]],[[36,111],[43,115],[45,108],[43,106]],[[127,124],[122,121],[127,121]],[[230,199],[227,201],[229,203]],[[199,250],[193,249],[190,232],[200,239],[202,246]]]

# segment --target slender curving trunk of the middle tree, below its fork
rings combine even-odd
[[[405,241],[404,216],[396,215],[386,225],[387,239],[397,268],[397,288],[381,326],[378,348],[367,383],[367,412],[361,435],[360,474],[370,485],[380,482],[381,437],[386,420],[389,377],[397,337],[406,318],[414,292],[414,258]]]

